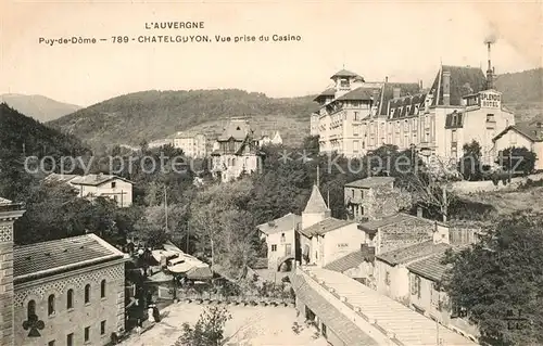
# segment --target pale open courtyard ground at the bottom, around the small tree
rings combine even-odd
[[[164,318],[141,335],[131,335],[123,346],[173,346],[181,334],[182,323],[193,325],[205,305],[195,303],[173,304],[163,310]],[[224,345],[229,346],[326,346],[328,343],[306,326],[293,307],[228,306],[231,319],[225,326]],[[292,326],[301,328],[294,333]]]

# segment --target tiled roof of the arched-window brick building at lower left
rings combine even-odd
[[[94,234],[14,246],[13,275],[40,275],[89,261],[123,258],[123,253]],[[47,272],[46,272],[47,271]]]

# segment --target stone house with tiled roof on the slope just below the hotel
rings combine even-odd
[[[368,177],[344,187],[349,218],[368,221],[399,213],[411,204],[411,195],[394,188],[392,177]]]

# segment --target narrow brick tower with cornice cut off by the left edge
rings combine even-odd
[[[0,345],[12,346],[13,330],[13,222],[23,216],[21,204],[0,197]]]

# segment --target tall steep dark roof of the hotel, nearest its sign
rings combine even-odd
[[[460,105],[462,98],[467,94],[478,93],[487,89],[487,78],[479,67],[464,66],[442,66],[438,72],[430,92],[433,91],[434,98],[432,105],[443,105],[443,72],[451,73],[451,105]],[[440,82],[441,80],[441,82]],[[438,90],[439,88],[439,90]],[[435,94],[438,95],[435,98]]]

